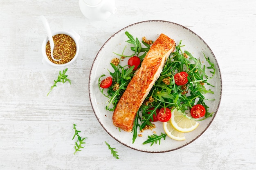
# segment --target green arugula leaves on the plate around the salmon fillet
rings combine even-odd
[[[138,38],[134,39],[130,33],[125,32],[129,40],[126,42],[132,44],[133,46],[130,48],[133,53],[130,56],[117,54],[121,57],[132,57],[133,55],[137,55],[142,61],[146,56],[146,53],[150,49],[150,45],[146,44],[142,41],[142,43],[146,46],[146,48],[141,47],[141,43]],[[207,89],[204,84],[207,84],[207,87],[214,88],[212,84],[208,81],[212,79],[215,75],[214,64],[209,60],[203,52],[203,56],[207,61],[207,65],[202,64],[200,59],[193,57],[189,51],[182,51],[184,45],[181,44],[182,41],[177,44],[175,47],[175,51],[170,54],[168,57],[166,64],[164,65],[163,71],[157,81],[155,82],[153,88],[150,90],[149,95],[146,97],[144,103],[141,105],[138,110],[132,132],[133,138],[132,143],[135,142],[137,137],[137,129],[143,129],[146,125],[152,126],[150,119],[153,120],[153,114],[156,114],[157,108],[172,108],[176,107],[178,110],[181,110],[182,114],[189,119],[195,119],[187,115],[189,113],[190,108],[192,108],[196,104],[201,104],[206,109],[206,114],[203,119],[195,119],[195,120],[204,120],[207,117],[211,117],[213,113],[209,113],[209,106],[205,103],[206,100],[214,100],[207,99],[204,97],[206,93],[213,94],[211,89]],[[126,47],[125,47],[126,48]],[[107,90],[107,94],[104,93],[104,89],[101,89],[99,86],[99,90],[101,93],[108,97],[106,109],[113,111],[121,97],[124,93],[128,83],[132,79],[135,71],[132,71],[133,67],[128,67],[127,65],[121,66],[118,64],[115,66],[110,63],[114,72],[110,72],[110,75],[113,78],[112,86],[110,86]],[[180,72],[186,72],[188,74],[188,83],[183,86],[178,86],[175,84],[174,75]],[[209,73],[211,75],[209,75]],[[99,84],[101,82],[101,78],[105,75],[101,75],[99,77]],[[119,88],[116,90],[114,86],[118,84]],[[105,91],[106,92],[106,91]],[[112,106],[112,107],[110,107]],[[153,110],[149,110],[149,108],[154,107]],[[149,114],[148,114],[149,113]],[[161,134],[160,136],[152,135],[148,136],[148,140],[143,144],[147,144],[152,142],[151,146],[154,143],[157,143],[157,140],[160,144],[160,139],[165,139],[166,134]]]

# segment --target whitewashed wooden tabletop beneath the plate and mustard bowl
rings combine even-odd
[[[78,0],[0,1],[0,169],[253,170],[256,167],[256,1],[126,0],[105,21],[83,16]],[[80,54],[68,66],[72,84],[57,84],[63,68],[42,64],[46,36],[74,29]],[[216,55],[222,101],[211,126],[193,143],[165,153],[132,150],[110,137],[97,121],[88,95],[90,68],[108,38],[144,20],[166,20],[197,33]],[[73,124],[85,148],[74,155]],[[115,159],[105,141],[116,148]]]

